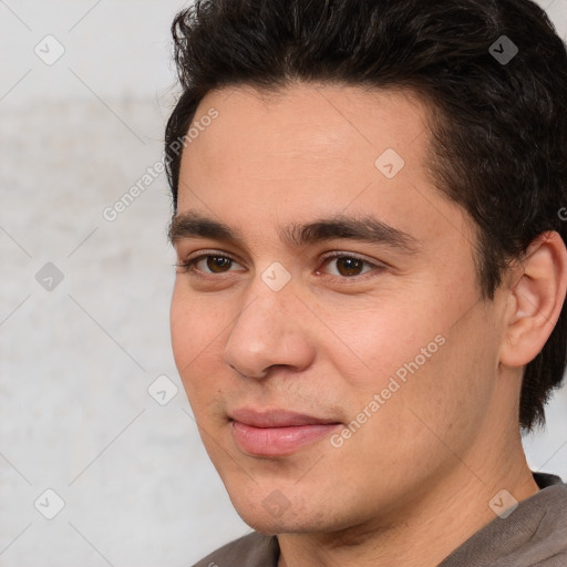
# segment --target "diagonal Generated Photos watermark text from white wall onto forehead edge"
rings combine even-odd
[[[196,137],[199,136],[200,132],[204,132],[207,126],[210,126],[213,121],[218,117],[218,111],[214,107],[209,109],[207,114],[200,116],[198,121],[195,121],[192,127],[188,130],[185,136],[179,137],[172,142],[169,145],[169,152],[175,155],[187,147]],[[140,179],[130,187],[112,206],[105,207],[102,212],[104,220],[114,223],[122,213],[124,213],[148,187],[154,183],[157,177],[165,171],[165,162],[167,156],[164,155],[161,159],[155,162],[154,165],[148,167]]]

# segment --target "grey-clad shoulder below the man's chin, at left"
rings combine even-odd
[[[194,567],[277,567],[278,557],[277,537],[252,532],[207,555]]]

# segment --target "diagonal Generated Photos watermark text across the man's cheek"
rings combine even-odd
[[[344,445],[344,441],[349,440],[357,433],[364,423],[374,415],[382,405],[384,405],[388,400],[392,398],[395,392],[400,390],[400,388],[408,382],[408,373],[415,374],[417,370],[427,362],[435,352],[439,351],[443,344],[445,344],[446,339],[443,334],[437,334],[435,339],[433,339],[426,347],[422,348],[420,354],[417,354],[412,361],[405,362],[402,364],[396,371],[395,377],[390,377],[388,384],[383,388],[380,393],[375,393],[372,396],[372,400],[368,402],[367,405],[362,409],[360,413],[347,425],[344,426],[340,433],[334,433],[330,437],[330,443],[333,447],[340,449]],[[398,378],[398,380],[396,380]],[[401,383],[400,383],[401,382]]]

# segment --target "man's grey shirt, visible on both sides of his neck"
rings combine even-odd
[[[567,485],[553,474],[533,473],[539,492],[505,519],[495,517],[437,567],[567,567]],[[277,567],[277,536],[254,532],[194,567]]]

